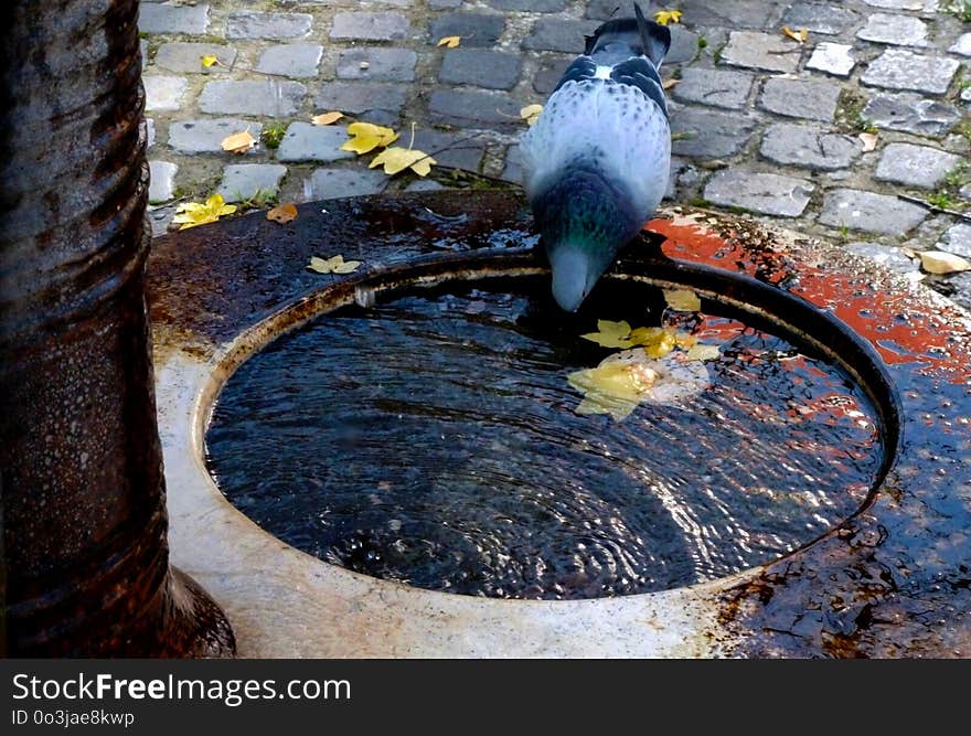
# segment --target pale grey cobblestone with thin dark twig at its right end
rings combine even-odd
[[[820,223],[832,227],[904,235],[924,222],[927,211],[896,196],[856,189],[836,189],[826,194]]]

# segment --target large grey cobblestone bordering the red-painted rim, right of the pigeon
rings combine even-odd
[[[704,196],[722,206],[777,217],[798,217],[814,190],[815,186],[804,179],[726,169],[712,177]]]

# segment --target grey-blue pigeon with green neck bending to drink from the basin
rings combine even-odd
[[[553,271],[553,298],[576,311],[668,189],[671,128],[658,68],[671,31],[619,18],[586,36],[520,141],[523,183]]]

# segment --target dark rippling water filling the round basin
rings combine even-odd
[[[334,312],[246,362],[206,436],[230,501],[375,577],[593,598],[773,559],[874,481],[883,450],[863,392],[718,305],[672,314],[660,291],[618,286],[567,317],[545,284],[538,297],[460,289]],[[673,319],[722,343],[709,387],[622,422],[577,414],[567,375],[616,352],[579,338],[597,319]]]

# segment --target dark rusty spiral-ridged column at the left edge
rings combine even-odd
[[[2,4],[6,654],[232,654],[220,608],[169,566],[138,2]]]

